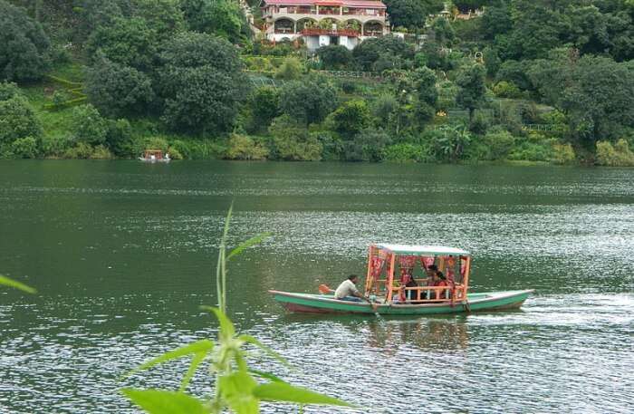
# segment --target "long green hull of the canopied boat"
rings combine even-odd
[[[533,290],[467,294],[464,303],[377,304],[376,311],[370,303],[340,301],[328,294],[293,294],[279,291],[269,293],[290,312],[419,315],[516,309],[522,306]]]

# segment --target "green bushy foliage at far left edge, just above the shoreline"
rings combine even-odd
[[[0,93],[10,96],[15,93],[11,84],[3,84]],[[42,125],[35,116],[33,107],[22,94],[0,101],[0,145],[26,137],[40,137]]]

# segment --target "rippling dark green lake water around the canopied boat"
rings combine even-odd
[[[231,263],[231,316],[298,370],[257,366],[363,407],[307,413],[631,412],[634,169],[221,161],[0,162],[0,273],[40,291],[0,289],[0,412],[138,412],[120,387],[177,388],[183,363],[120,375],[215,336],[198,305],[232,199],[232,245],[274,236]],[[363,274],[372,242],[462,247],[473,291],[536,292],[383,321],[266,293]]]

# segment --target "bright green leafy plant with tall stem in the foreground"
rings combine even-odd
[[[216,316],[219,331],[216,340],[203,339],[181,346],[153,358],[130,371],[126,376],[148,370],[156,365],[181,358],[190,358],[189,368],[183,374],[178,390],[121,390],[140,408],[151,414],[206,413],[216,414],[229,409],[236,414],[260,412],[262,401],[280,401],[299,404],[324,404],[351,407],[351,404],[312,390],[295,387],[269,372],[254,369],[246,359],[245,345],[253,345],[268,353],[285,366],[288,362],[255,337],[236,332],[234,324],[226,316],[226,265],[247,247],[259,244],[268,234],[250,238],[226,253],[226,237],[229,232],[233,205],[226,215],[223,235],[216,265],[217,306],[202,306]],[[209,380],[214,382],[214,393],[207,398],[197,398],[187,393],[189,381],[203,362],[209,362]]]

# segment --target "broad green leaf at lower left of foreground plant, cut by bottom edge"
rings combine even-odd
[[[126,397],[149,414],[208,414],[203,401],[184,392],[163,390],[121,390]]]

